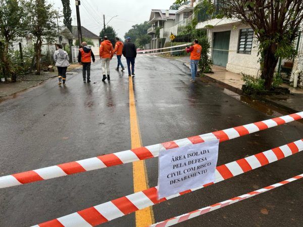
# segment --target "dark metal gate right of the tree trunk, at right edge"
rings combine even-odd
[[[303,40],[301,38],[302,31],[299,32],[297,39],[295,40],[295,47],[298,53],[303,51]],[[289,84],[294,58],[279,60],[278,73],[284,83]]]

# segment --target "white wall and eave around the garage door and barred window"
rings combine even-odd
[[[259,56],[257,55],[258,45],[256,44],[256,39],[254,39],[252,43],[251,54],[237,53],[239,31],[240,29],[245,28],[249,28],[249,26],[240,24],[221,25],[220,27],[209,29],[208,37],[213,46],[214,32],[231,31],[229,41],[230,52],[228,54],[226,70],[237,74],[244,73],[251,76],[257,76],[260,75],[260,63],[258,63]]]

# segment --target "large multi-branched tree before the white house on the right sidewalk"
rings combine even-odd
[[[217,5],[204,0],[201,4],[208,6],[209,15],[237,19],[255,31],[261,78],[265,80],[265,88],[270,90],[279,58],[291,58],[296,52],[293,41],[303,21],[303,0],[218,0]]]

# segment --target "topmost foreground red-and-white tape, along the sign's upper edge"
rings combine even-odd
[[[286,115],[279,118],[269,119],[262,122],[238,126],[185,139],[174,140],[146,147],[139,147],[112,154],[106,154],[83,160],[53,165],[45,168],[39,168],[33,171],[8,175],[0,177],[0,188],[23,185],[37,181],[64,177],[81,172],[92,171],[94,169],[106,168],[114,165],[154,158],[159,156],[159,151],[163,147],[166,149],[171,149],[191,144],[204,143],[206,141],[211,141],[214,139],[220,139],[220,142],[223,142],[300,119],[303,119],[303,112],[297,112],[293,113],[292,115]]]

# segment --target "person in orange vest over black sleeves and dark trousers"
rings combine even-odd
[[[86,74],[87,74],[87,83],[90,83],[90,65],[92,62],[95,62],[94,54],[92,50],[87,47],[86,42],[82,42],[82,47],[79,49],[78,54],[78,63],[82,65],[82,75],[83,82],[86,82]]]

